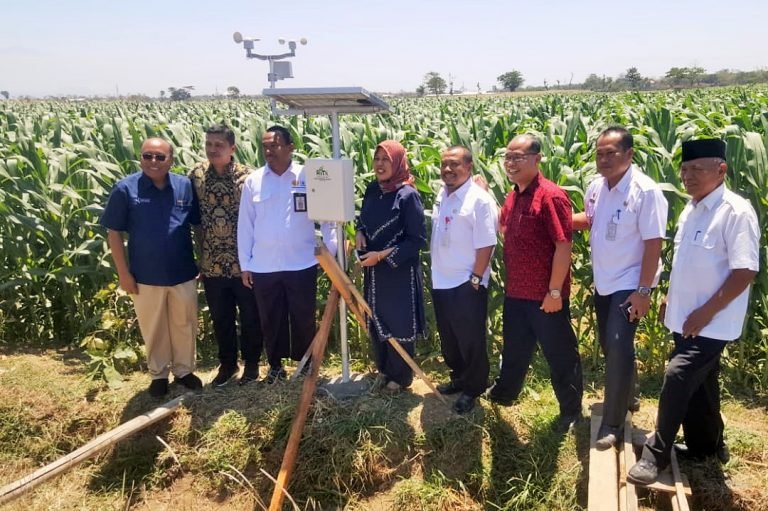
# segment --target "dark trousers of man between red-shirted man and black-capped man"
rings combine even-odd
[[[600,346],[605,356],[605,397],[603,425],[621,428],[637,394],[635,364],[635,332],[619,309],[634,290],[616,291],[610,295],[595,293],[595,312]]]

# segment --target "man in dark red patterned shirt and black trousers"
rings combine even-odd
[[[581,417],[583,383],[578,341],[568,307],[571,265],[571,201],[539,171],[541,142],[533,135],[507,145],[504,169],[514,188],[501,208],[507,270],[501,373],[488,392],[511,405],[523,388],[538,340],[549,363],[560,403],[557,426],[570,429]]]

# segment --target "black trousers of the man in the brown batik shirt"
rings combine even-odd
[[[206,277],[205,299],[219,345],[219,363],[237,364],[237,315],[240,315],[240,353],[248,364],[258,364],[263,336],[256,299],[240,277]]]

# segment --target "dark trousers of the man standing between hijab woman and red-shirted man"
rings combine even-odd
[[[483,286],[475,290],[467,281],[452,289],[433,289],[432,301],[451,381],[464,394],[477,397],[488,387],[488,290]]]

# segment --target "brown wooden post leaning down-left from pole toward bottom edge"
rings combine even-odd
[[[333,323],[333,317],[336,314],[336,307],[338,305],[339,292],[334,288],[328,295],[328,301],[325,304],[325,311],[323,312],[323,319],[320,321],[320,327],[318,328],[317,334],[315,334],[315,338],[312,340],[312,370],[304,380],[304,386],[301,389],[299,405],[296,408],[296,416],[293,418],[293,423],[291,424],[291,433],[288,436],[288,443],[285,446],[285,454],[283,455],[283,462],[280,465],[280,473],[277,476],[277,483],[272,492],[272,501],[269,504],[269,511],[280,511],[283,505],[285,490],[290,482],[293,469],[296,466],[296,455],[299,452],[301,434],[307,420],[309,407],[312,405],[312,400],[315,396],[320,365],[325,356],[328,335],[331,332],[331,324]]]

